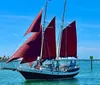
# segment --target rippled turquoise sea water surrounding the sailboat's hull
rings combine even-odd
[[[80,73],[73,79],[26,81],[17,71],[0,70],[0,85],[100,85],[100,61],[78,61]]]

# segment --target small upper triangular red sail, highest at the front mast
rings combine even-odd
[[[27,35],[30,32],[39,32],[40,24],[41,24],[41,18],[42,18],[42,10],[38,14],[38,16],[35,18],[35,20],[32,22],[31,26],[28,28],[26,33],[24,34]]]

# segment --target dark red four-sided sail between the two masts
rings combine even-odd
[[[55,17],[44,31],[42,59],[56,58]]]

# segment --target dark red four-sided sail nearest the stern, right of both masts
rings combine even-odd
[[[62,32],[60,57],[77,58],[76,22],[73,21]]]

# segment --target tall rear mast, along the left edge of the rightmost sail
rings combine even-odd
[[[63,11],[63,15],[62,15],[62,22],[61,22],[61,28],[60,28],[60,36],[59,36],[59,43],[58,43],[58,55],[57,55],[57,60],[60,57],[60,48],[61,48],[61,38],[62,38],[62,31],[63,31],[63,27],[64,27],[64,17],[65,17],[65,10],[66,10],[66,0],[64,1],[64,11]]]

